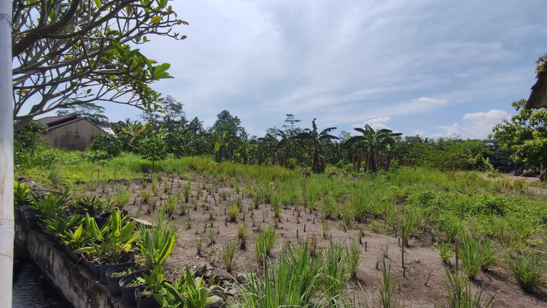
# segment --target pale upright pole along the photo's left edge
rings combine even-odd
[[[11,307],[13,277],[13,98],[11,4],[0,0],[0,304]]]

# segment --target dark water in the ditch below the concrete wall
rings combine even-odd
[[[72,308],[31,261],[14,269],[13,308]]]

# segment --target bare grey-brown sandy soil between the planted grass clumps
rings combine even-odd
[[[187,181],[181,179],[178,176],[165,176],[165,182],[161,183],[160,187],[168,185],[172,187],[172,191],[180,190],[182,193],[182,187]],[[327,245],[329,239],[323,239],[323,231],[321,228],[321,213],[304,213],[302,211],[301,217],[297,218],[292,208],[284,209],[282,212],[281,222],[276,223],[274,213],[271,211],[269,204],[261,204],[258,210],[254,210],[254,213],[249,212],[251,205],[251,199],[247,196],[242,196],[241,193],[237,194],[233,188],[229,185],[217,184],[217,191],[215,193],[216,205],[213,197],[208,196],[207,203],[203,204],[203,197],[207,195],[207,191],[203,189],[203,177],[199,175],[193,176],[191,182],[192,197],[188,202],[187,207],[189,213],[184,216],[181,214],[175,214],[174,222],[179,225],[181,231],[181,240],[177,243],[173,250],[172,255],[167,260],[168,276],[174,279],[178,276],[179,270],[183,268],[185,263],[190,265],[190,268],[199,264],[206,263],[213,267],[224,269],[224,264],[220,259],[220,251],[222,245],[226,239],[236,239],[237,222],[226,222],[226,207],[231,200],[235,197],[243,197],[242,212],[238,215],[237,221],[243,221],[243,214],[245,214],[245,223],[249,227],[249,239],[247,241],[247,250],[236,252],[235,269],[232,274],[245,272],[245,269],[255,269],[256,261],[254,260],[254,233],[258,230],[259,226],[264,225],[276,225],[277,224],[277,240],[276,248],[273,251],[275,257],[281,251],[281,247],[289,243],[296,243],[297,241],[306,240],[309,237],[315,236],[320,245]],[[117,183],[109,183],[108,188],[102,191],[101,187],[98,187],[95,191],[98,195],[108,195],[112,197],[114,190],[117,187],[126,187],[129,184],[132,199],[130,205],[124,207],[129,213],[143,219],[150,219],[150,214],[147,212],[150,206],[141,205],[141,189],[143,187],[143,180],[134,180],[130,182],[118,181]],[[147,183],[147,187],[150,184]],[[230,197],[227,200],[221,200],[220,191],[229,190]],[[195,197],[197,191],[202,191],[202,197],[200,198],[196,210],[192,205],[191,199]],[[243,187],[241,188],[243,190]],[[163,194],[161,199],[165,199],[167,194]],[[163,202],[158,200],[156,207],[159,207]],[[184,200],[182,200],[184,202]],[[134,204],[133,204],[134,203]],[[213,219],[210,220],[210,212],[208,208],[212,208]],[[263,212],[265,213],[265,219],[263,221]],[[383,225],[383,221],[379,222]],[[213,225],[214,235],[216,236],[217,244],[214,246],[213,254],[210,255],[210,248],[207,247],[209,240],[207,239],[205,232],[205,225],[210,228]],[[189,226],[189,228],[188,228]],[[428,234],[423,234],[418,239],[412,239],[410,241],[410,247],[407,248],[404,253],[405,260],[405,276],[403,277],[403,270],[401,269],[401,252],[398,246],[398,239],[394,235],[375,234],[368,231],[368,224],[358,224],[352,229],[344,230],[341,223],[336,220],[328,220],[328,237],[332,237],[333,240],[350,243],[352,238],[356,238],[358,230],[365,230],[365,236],[362,239],[361,246],[361,261],[357,270],[357,282],[351,286],[358,294],[359,297],[365,297],[368,303],[372,307],[378,306],[378,290],[376,275],[380,273],[377,270],[377,260],[381,253],[382,246],[388,247],[389,260],[392,262],[392,272],[397,277],[397,295],[399,299],[404,298],[405,307],[437,307],[446,306],[444,303],[445,293],[443,288],[444,277],[444,265],[440,258],[440,255],[435,251],[431,245],[431,239]],[[305,231],[304,231],[305,229]],[[298,230],[298,239],[296,238]],[[203,239],[203,252],[199,256],[196,253],[195,243],[198,239]],[[366,249],[365,249],[366,247]],[[455,260],[452,259],[452,264]],[[427,285],[426,277],[430,276]],[[484,285],[490,289],[488,294],[493,294],[497,291],[496,298],[492,307],[545,307],[547,306],[543,301],[539,300],[534,295],[528,295],[523,293],[519,287],[513,282],[510,274],[507,270],[502,268],[494,268],[488,272],[482,272],[478,279],[474,282],[476,286]]]

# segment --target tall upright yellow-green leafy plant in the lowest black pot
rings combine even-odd
[[[143,282],[143,286],[135,290],[135,299],[139,308],[153,307],[156,305],[154,294],[164,293],[164,264],[177,242],[177,226],[171,222],[165,223],[164,211],[159,211],[154,225],[152,228],[141,227],[141,238],[138,242],[143,257],[150,265],[150,275],[138,278]]]

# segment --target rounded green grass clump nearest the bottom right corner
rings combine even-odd
[[[524,292],[532,292],[543,281],[541,260],[536,253],[526,252],[515,258],[509,263],[509,269]]]

